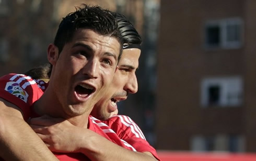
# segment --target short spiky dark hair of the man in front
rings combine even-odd
[[[68,14],[59,25],[57,30],[54,45],[59,49],[59,54],[61,53],[64,45],[72,41],[74,33],[77,29],[91,29],[98,34],[103,36],[111,36],[118,39],[119,43],[122,45],[122,36],[118,30],[117,20],[113,17],[110,11],[102,9],[99,6],[87,6],[83,4],[83,8],[76,7],[75,12]],[[122,47],[120,48],[121,57]],[[51,75],[52,65],[48,73],[49,77]]]

